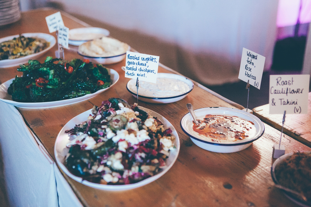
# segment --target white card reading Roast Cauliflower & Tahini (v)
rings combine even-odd
[[[269,113],[307,114],[310,75],[270,75]]]

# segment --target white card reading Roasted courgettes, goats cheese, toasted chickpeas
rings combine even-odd
[[[126,52],[125,77],[156,83],[159,56]]]

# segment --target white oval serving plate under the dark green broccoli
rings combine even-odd
[[[37,103],[23,103],[23,102],[12,101],[11,95],[7,93],[7,89],[9,88],[10,84],[13,82],[14,80],[13,78],[0,85],[0,100],[8,104],[11,104],[13,106],[17,106],[20,108],[26,108],[26,109],[53,108],[53,107],[66,106],[69,104],[78,103],[78,102],[85,101],[85,100],[88,100],[90,98],[97,96],[98,94],[108,90],[115,83],[117,83],[117,81],[119,80],[118,72],[113,69],[108,69],[108,72],[110,74],[110,83],[111,83],[110,87],[108,88],[104,88],[104,89],[96,91],[95,93],[86,94],[84,96],[77,97],[77,98],[65,99],[61,101],[49,101],[49,102],[37,102]]]

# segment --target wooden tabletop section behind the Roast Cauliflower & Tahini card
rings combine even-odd
[[[263,122],[281,131],[282,114],[269,114],[269,104],[253,109],[253,114]],[[286,114],[283,132],[299,142],[311,147],[311,92],[308,98],[307,114]]]

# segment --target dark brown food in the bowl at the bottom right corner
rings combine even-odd
[[[281,186],[301,193],[311,202],[311,153],[295,152],[277,165],[274,172]]]

